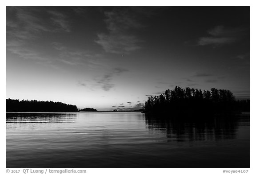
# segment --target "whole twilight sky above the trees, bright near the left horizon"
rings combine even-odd
[[[6,98],[135,110],[176,85],[250,99],[249,6],[6,7]]]

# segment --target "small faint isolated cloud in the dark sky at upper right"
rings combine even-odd
[[[198,45],[212,45],[212,46],[221,46],[225,44],[230,44],[237,42],[244,35],[247,35],[247,31],[244,28],[225,28],[224,26],[216,26],[213,29],[208,31],[207,37],[201,37],[198,40]]]

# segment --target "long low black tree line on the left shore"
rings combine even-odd
[[[6,99],[6,112],[77,112],[76,105],[54,101]]]

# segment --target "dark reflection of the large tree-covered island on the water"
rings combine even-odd
[[[168,141],[235,139],[241,117],[157,117],[146,115],[149,129],[163,130]]]

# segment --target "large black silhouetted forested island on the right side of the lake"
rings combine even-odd
[[[173,90],[166,89],[163,94],[148,97],[144,113],[232,113],[250,112],[250,101],[236,101],[233,93],[226,89],[202,91],[194,88],[176,86]]]

